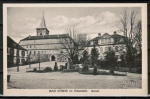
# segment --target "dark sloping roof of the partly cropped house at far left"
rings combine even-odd
[[[7,36],[7,47],[26,50],[25,48],[21,47],[18,43],[16,43],[13,39],[11,39],[9,36]]]

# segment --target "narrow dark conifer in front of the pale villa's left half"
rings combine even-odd
[[[94,47],[91,50],[92,66],[94,66],[94,64],[97,63],[98,57],[99,57],[99,52],[98,49],[95,48],[95,43],[94,43]]]

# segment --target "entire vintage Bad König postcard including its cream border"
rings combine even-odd
[[[146,4],[4,4],[3,13],[6,95],[147,94]]]

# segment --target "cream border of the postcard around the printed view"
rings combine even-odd
[[[100,89],[100,92],[67,92],[50,93],[49,89],[7,89],[7,7],[142,7],[142,89]],[[147,95],[147,4],[146,3],[103,3],[103,4],[3,4],[3,89],[7,96],[106,96],[106,95]]]

